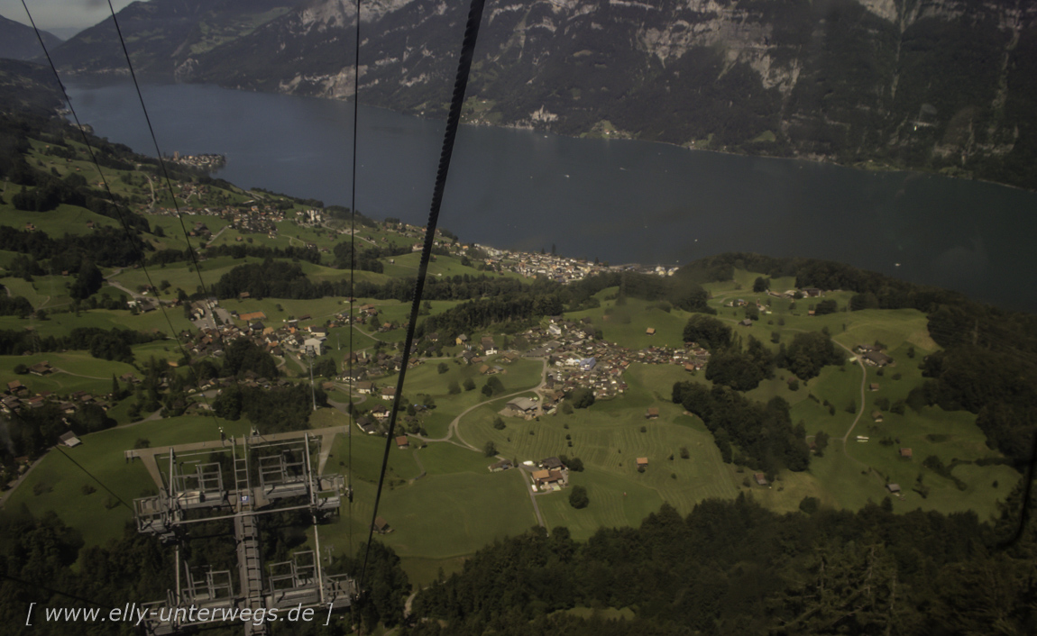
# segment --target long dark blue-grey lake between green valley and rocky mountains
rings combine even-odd
[[[129,84],[74,84],[80,119],[153,154]],[[349,104],[144,87],[164,153],[220,152],[219,176],[349,204]],[[424,225],[443,125],[360,109],[357,208]],[[441,227],[463,241],[617,262],[727,251],[828,258],[1037,310],[1037,194],[926,174],[463,126]]]

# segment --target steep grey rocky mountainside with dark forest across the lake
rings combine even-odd
[[[355,3],[289,5],[152,0],[120,24],[151,6],[136,20],[155,74],[351,96]],[[441,113],[467,5],[365,0],[361,99]],[[157,40],[156,11],[175,41]],[[62,49],[83,69],[118,68],[85,63],[83,47]],[[1037,3],[1025,0],[502,0],[487,3],[469,94],[472,122],[1037,187]]]

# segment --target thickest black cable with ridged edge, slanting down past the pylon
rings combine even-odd
[[[411,359],[411,348],[414,345],[414,331],[418,323],[418,312],[421,309],[421,293],[428,273],[428,261],[432,254],[432,242],[436,239],[436,226],[440,219],[440,207],[443,204],[443,192],[446,189],[447,173],[450,170],[450,156],[453,154],[454,140],[457,138],[457,126],[460,124],[460,111],[465,105],[465,90],[468,87],[468,76],[472,69],[472,58],[475,55],[475,42],[479,36],[479,24],[482,22],[482,8],[485,0],[472,0],[468,12],[468,23],[465,25],[465,39],[461,44],[460,59],[457,62],[457,77],[454,80],[453,96],[450,99],[450,112],[447,115],[447,126],[443,134],[443,150],[440,153],[440,167],[436,173],[436,185],[432,189],[432,203],[428,212],[428,225],[425,228],[425,241],[421,249],[421,262],[418,265],[418,278],[414,283],[414,297],[411,302],[411,319],[407,325],[407,340],[403,342],[403,358],[400,363],[399,378],[396,381],[396,395],[393,398],[392,411],[389,415],[389,434],[386,437],[385,453],[382,457],[382,471],[379,474],[379,487],[374,495],[374,510],[371,513],[371,526],[367,534],[367,547],[364,550],[364,561],[360,571],[360,587],[363,588],[367,574],[367,561],[371,554],[371,540],[374,538],[374,520],[379,514],[379,503],[382,500],[382,487],[385,484],[386,467],[389,464],[389,451],[393,443],[393,431],[396,428],[396,415],[399,412],[400,399],[403,394],[403,380],[407,376],[408,364]],[[360,16],[357,16],[360,19]]]

